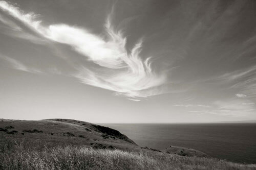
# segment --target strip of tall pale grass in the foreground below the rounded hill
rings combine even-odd
[[[0,169],[256,169],[213,158],[72,145],[49,148],[8,138],[1,140],[0,149]]]

